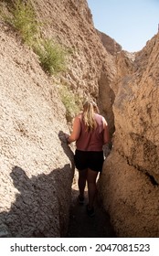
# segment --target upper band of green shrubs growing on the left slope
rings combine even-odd
[[[31,2],[16,0],[9,6],[11,16],[5,16],[5,21],[14,27],[24,42],[33,48],[41,67],[53,75],[66,70],[68,52],[53,39],[40,37],[40,23]]]

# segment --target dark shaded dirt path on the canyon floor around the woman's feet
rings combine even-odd
[[[101,204],[96,199],[95,216],[89,217],[86,212],[88,203],[87,191],[85,192],[85,203],[80,205],[77,197],[79,188],[77,185],[78,173],[75,172],[72,185],[72,203],[69,215],[69,238],[112,238],[116,237],[111,227],[109,215],[101,208]]]

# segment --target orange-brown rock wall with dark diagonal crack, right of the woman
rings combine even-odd
[[[116,78],[113,150],[101,195],[119,237],[159,237],[158,51],[157,34],[136,53],[127,76]]]

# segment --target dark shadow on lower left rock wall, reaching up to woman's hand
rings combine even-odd
[[[9,210],[0,213],[1,237],[65,236],[74,163],[64,133],[60,131],[58,137],[70,164],[31,178],[20,166],[13,167],[10,176],[17,193]]]

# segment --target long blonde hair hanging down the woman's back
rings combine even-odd
[[[97,123],[94,119],[95,112],[99,112],[97,104],[94,101],[85,101],[83,104],[83,121],[86,125],[87,132],[97,127]]]

